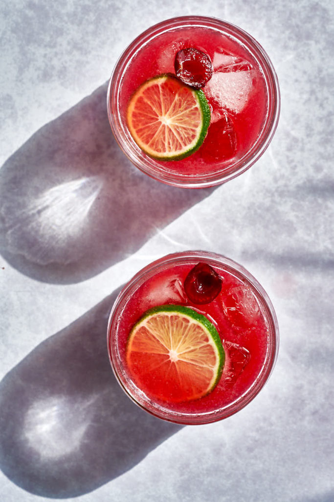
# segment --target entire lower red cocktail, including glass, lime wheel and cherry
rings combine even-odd
[[[237,412],[273,368],[278,327],[269,298],[240,265],[207,252],[168,255],[140,271],[113,307],[115,375],[148,412],[209,423]]]

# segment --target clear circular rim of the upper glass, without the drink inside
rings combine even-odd
[[[195,26],[196,24],[198,26],[223,31],[226,35],[232,36],[237,41],[241,42],[258,63],[267,91],[266,116],[264,118],[261,131],[251,148],[245,155],[243,155],[243,157],[241,157],[241,159],[237,159],[232,166],[221,168],[220,170],[217,168],[217,170],[212,173],[204,173],[198,176],[194,176],[193,174],[182,175],[181,173],[175,172],[167,173],[160,170],[158,164],[155,166],[155,160],[145,157],[142,152],[139,152],[139,147],[136,147],[133,144],[132,139],[127,138],[129,133],[126,133],[119,110],[119,92],[121,82],[124,74],[126,73],[129,61],[136,54],[136,52],[138,52],[144,44],[161,33],[175,28],[186,27],[188,25]],[[225,183],[245,172],[263,155],[269,146],[277,128],[280,112],[278,79],[267,53],[264,51],[262,46],[242,28],[214,17],[175,17],[157,23],[148,28],[137,36],[123,51],[116,62],[109,80],[107,92],[107,112],[111,130],[119,147],[131,163],[134,164],[140,171],[147,174],[151,178],[175,187],[211,187]],[[226,170],[227,172],[225,172]]]

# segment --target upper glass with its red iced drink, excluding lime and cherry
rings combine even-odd
[[[211,108],[209,130],[188,158],[156,160],[133,140],[127,105],[143,82],[173,73],[175,54],[187,47],[205,52],[213,64],[202,89]],[[274,135],[279,106],[277,77],[260,44],[241,28],[202,16],[169,19],[137,37],[119,58],[107,96],[111,129],[130,161],[156,180],[186,188],[219,185],[252,166]]]

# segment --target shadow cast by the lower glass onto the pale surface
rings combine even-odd
[[[0,467],[32,493],[88,493],[137,464],[181,426],[125,395],[111,370],[107,297],[38,345],[0,384]]]

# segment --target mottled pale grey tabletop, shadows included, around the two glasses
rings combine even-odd
[[[0,3],[0,500],[334,500],[332,5]],[[187,14],[251,33],[282,100],[263,157],[202,191],[132,167],[105,105],[134,36]],[[238,414],[195,427],[133,405],[105,339],[120,286],[185,249],[245,266],[280,327],[263,391]]]

